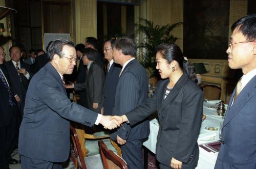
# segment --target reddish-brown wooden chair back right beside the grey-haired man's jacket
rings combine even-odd
[[[75,164],[75,168],[87,169],[86,163],[84,162],[84,158],[82,155],[82,150],[81,150],[81,146],[79,143],[76,130],[71,125],[70,125],[70,137],[71,137],[70,158]]]

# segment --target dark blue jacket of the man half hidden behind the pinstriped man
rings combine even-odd
[[[104,115],[112,115],[112,110],[115,104],[116,86],[119,81],[121,65],[113,63],[109,72],[106,73],[104,85]]]

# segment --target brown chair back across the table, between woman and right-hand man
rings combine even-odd
[[[204,99],[219,100],[221,97],[221,88],[215,85],[205,85],[203,87]]]

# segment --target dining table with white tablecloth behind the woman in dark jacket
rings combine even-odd
[[[202,121],[200,134],[198,136],[199,160],[196,169],[213,169],[217,160],[220,148],[221,127],[224,117],[217,114],[217,108],[221,100],[204,101],[203,114],[205,119]],[[227,109],[227,104],[225,104]],[[143,143],[143,146],[156,153],[157,134],[159,121],[156,116],[150,118],[150,135]],[[146,151],[147,151],[146,150]],[[146,159],[144,158],[144,162]]]

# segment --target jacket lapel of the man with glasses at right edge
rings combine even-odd
[[[241,93],[238,95],[237,99],[235,102],[233,102],[233,105],[231,106],[232,104],[232,100],[233,100],[233,97],[234,97],[234,93],[232,94],[232,97],[230,97],[230,102],[229,102],[229,109],[228,111],[226,112],[226,117],[224,119],[224,122],[223,122],[223,126],[227,125],[232,119],[234,116],[236,116],[238,114],[238,112],[240,112],[241,108],[243,108],[243,106],[253,97],[254,95],[254,91],[256,88],[256,76],[254,76],[248,83],[247,85],[244,87],[244,89],[241,91]],[[236,89],[234,90],[236,91]]]

